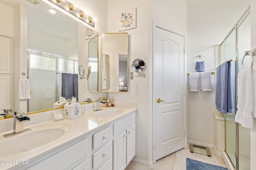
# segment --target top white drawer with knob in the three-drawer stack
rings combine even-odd
[[[108,141],[112,137],[111,126],[95,133],[93,135],[93,149],[98,148],[100,145]]]

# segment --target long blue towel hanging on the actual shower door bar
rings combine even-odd
[[[233,112],[231,62],[224,62],[217,67],[216,108],[222,113]]]

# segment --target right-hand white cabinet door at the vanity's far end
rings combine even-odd
[[[135,125],[127,129],[127,164],[130,163],[135,156]]]

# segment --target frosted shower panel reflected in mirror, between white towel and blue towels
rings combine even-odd
[[[56,59],[34,54],[30,54],[29,59],[31,99],[28,111],[50,109],[56,94]]]

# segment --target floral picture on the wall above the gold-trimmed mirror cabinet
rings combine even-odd
[[[136,28],[136,8],[119,12],[118,31]]]

